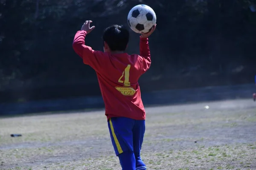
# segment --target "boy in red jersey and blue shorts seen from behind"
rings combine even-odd
[[[140,36],[140,55],[125,53],[129,32],[123,26],[113,25],[103,33],[104,52],[94,51],[84,45],[84,38],[95,26],[85,21],[81,31],[77,31],[74,51],[90,65],[97,74],[111,141],[122,170],[146,170],[140,158],[140,150],[145,133],[145,110],[140,96],[138,79],[151,65],[148,36]]]

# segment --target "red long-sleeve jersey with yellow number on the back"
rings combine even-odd
[[[140,37],[140,55],[111,54],[94,51],[84,44],[86,31],[77,31],[74,51],[90,65],[97,74],[99,87],[105,103],[105,115],[145,120],[138,80],[151,65],[148,38]]]

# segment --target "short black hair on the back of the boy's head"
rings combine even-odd
[[[125,51],[129,42],[129,31],[125,26],[112,25],[104,30],[102,38],[111,51]]]

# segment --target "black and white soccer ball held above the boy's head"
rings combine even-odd
[[[157,16],[149,6],[137,5],[129,12],[127,22],[132,31],[147,33],[157,22]]]

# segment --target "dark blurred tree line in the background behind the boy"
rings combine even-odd
[[[102,30],[127,26],[137,4],[157,14],[143,91],[253,82],[256,0],[0,0],[0,101],[99,95],[73,37],[93,20],[86,43],[102,50]],[[128,53],[138,52],[131,31]]]

